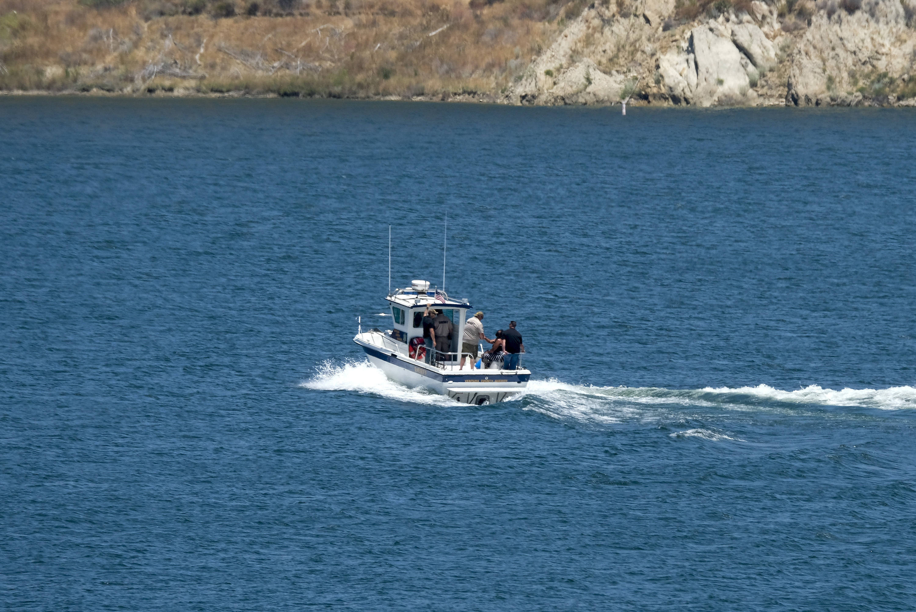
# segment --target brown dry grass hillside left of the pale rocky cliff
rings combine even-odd
[[[0,90],[495,100],[581,0],[0,0]]]

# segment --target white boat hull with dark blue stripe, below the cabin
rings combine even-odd
[[[411,359],[407,345],[398,343],[385,333],[359,333],[354,342],[365,350],[369,362],[385,375],[408,387],[428,388],[464,404],[487,404],[517,396],[528,386],[529,370],[471,369],[466,364],[435,367]]]

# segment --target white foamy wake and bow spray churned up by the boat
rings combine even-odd
[[[445,396],[404,387],[389,380],[367,361],[324,362],[300,387],[316,390],[355,391],[387,399],[425,405],[454,406]],[[816,407],[856,407],[878,410],[916,409],[916,388],[891,387],[883,389],[834,390],[811,385],[794,391],[784,391],[768,385],[741,388],[630,388],[571,385],[556,379],[531,380],[518,401],[528,410],[537,410],[557,417],[572,417],[586,421],[642,421],[667,413],[683,415],[684,409],[714,410],[799,410]],[[679,435],[700,436],[697,432]],[[719,434],[712,434],[719,435]],[[727,437],[727,436],[726,436]]]

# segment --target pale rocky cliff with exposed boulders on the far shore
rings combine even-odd
[[[907,0],[720,0],[692,20],[678,9],[673,0],[590,5],[532,58],[505,101],[916,104]]]

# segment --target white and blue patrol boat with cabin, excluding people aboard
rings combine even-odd
[[[429,281],[414,280],[408,289],[388,293],[386,300],[391,306],[393,329],[363,332],[360,325],[353,341],[363,347],[372,365],[388,378],[476,405],[510,399],[528,386],[531,373],[521,366],[517,370],[476,368],[476,357],[461,353],[464,322],[471,310],[466,299],[452,300],[445,291],[430,290]],[[426,363],[429,349],[423,345],[423,311],[428,306],[441,310],[453,324],[450,351],[433,350],[430,363]],[[460,370],[462,355],[467,359]]]

